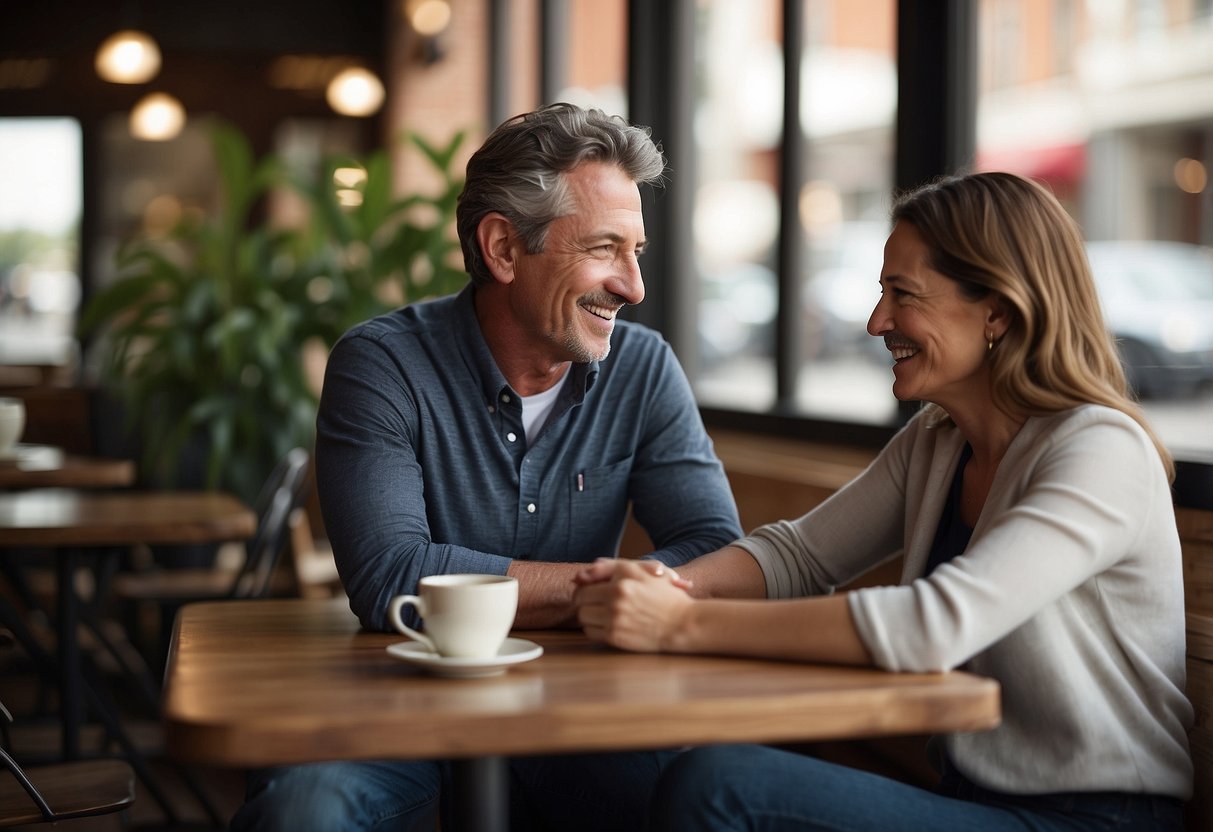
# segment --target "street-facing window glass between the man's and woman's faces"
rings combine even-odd
[[[896,103],[895,4],[805,4],[797,62],[804,181],[781,195],[786,56],[775,0],[713,0],[696,44],[694,241],[706,405],[763,411],[776,399],[775,319],[792,303],[795,392],[805,416],[890,423],[887,353],[867,335],[888,234]],[[798,222],[799,278],[780,292],[780,199]]]

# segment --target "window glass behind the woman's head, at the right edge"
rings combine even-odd
[[[986,0],[981,15],[978,166],[1067,206],[1146,414],[1178,457],[1213,461],[1213,102],[1192,95],[1213,87],[1206,11]]]

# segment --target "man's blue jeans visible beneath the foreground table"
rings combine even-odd
[[[677,753],[511,758],[511,828],[643,830],[654,783]],[[444,764],[427,760],[315,763],[254,771],[230,828],[432,832],[448,777]],[[443,814],[443,832],[457,832],[451,830],[449,810]]]

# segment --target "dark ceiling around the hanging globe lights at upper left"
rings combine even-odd
[[[0,115],[90,122],[155,90],[255,137],[285,118],[331,118],[323,85],[270,84],[274,58],[342,59],[382,75],[387,12],[387,0],[0,0]],[[121,28],[143,29],[160,45],[150,82],[97,78],[97,46]]]

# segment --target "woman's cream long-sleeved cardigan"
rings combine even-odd
[[[855,591],[850,611],[879,667],[1000,682],[1002,724],[946,737],[974,782],[1186,799],[1183,566],[1149,437],[1097,405],[1027,420],[964,554],[924,579],[963,444],[921,415],[830,500],[738,545],[770,598],[828,593],[905,554],[901,586]]]

